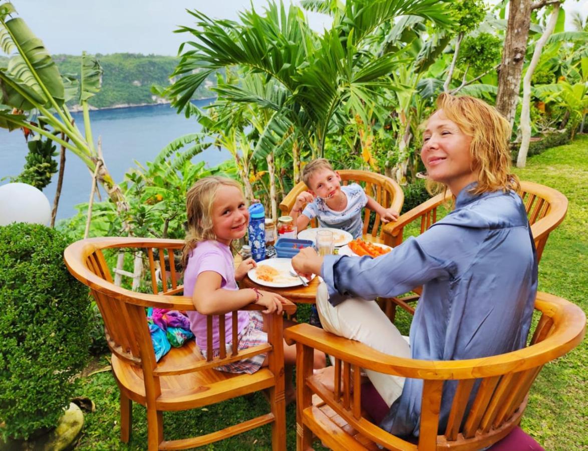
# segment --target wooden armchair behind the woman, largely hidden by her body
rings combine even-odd
[[[543,249],[549,238],[549,233],[552,232],[563,219],[567,213],[567,198],[559,191],[556,191],[549,186],[539,185],[534,182],[520,182],[519,195],[523,198],[524,208],[527,211],[527,218],[531,225],[531,232],[537,249],[537,260],[541,259]],[[382,227],[382,236],[384,242],[392,247],[398,246],[402,243],[405,228],[416,222],[416,229],[420,220],[420,232],[423,233],[429,229],[435,222],[437,222],[437,209],[442,205],[449,205],[452,198],[452,193],[447,190],[445,194],[441,193],[421,203],[412,210],[404,213],[395,222],[390,222]],[[415,302],[419,299],[420,289],[413,290],[417,295],[407,296],[405,298],[391,298],[392,303],[386,303],[386,315],[390,320],[394,320],[396,315],[396,306],[414,314],[415,309],[410,306],[410,302]]]

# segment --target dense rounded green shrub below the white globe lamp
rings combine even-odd
[[[89,298],[65,268],[64,236],[42,225],[0,227],[0,433],[54,427],[88,356]]]

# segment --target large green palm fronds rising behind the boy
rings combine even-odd
[[[240,15],[240,23],[214,20],[198,11],[196,28],[182,26],[178,32],[193,35],[181,46],[174,76],[179,79],[167,90],[179,111],[191,108],[189,99],[219,68],[237,65],[263,74],[286,93],[280,105],[283,118],[300,133],[300,146],[313,155],[323,155],[333,121],[342,111],[376,109],[385,89],[395,86],[389,74],[402,64],[396,54],[366,51],[366,42],[380,25],[399,15],[425,17],[439,26],[449,26],[445,6],[436,0],[354,0],[336,5],[333,25],[323,35],[313,32],[302,11],[270,2],[265,15],[252,11]],[[266,105],[266,99],[235,86],[234,98]]]

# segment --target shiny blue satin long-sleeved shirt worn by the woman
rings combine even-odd
[[[329,302],[389,298],[422,285],[410,326],[413,359],[473,359],[523,348],[537,292],[524,205],[515,192],[472,195],[471,187],[459,193],[454,211],[386,255],[326,256],[321,273]],[[455,389],[455,382],[443,387],[440,431]],[[406,379],[380,426],[395,435],[418,435],[421,396],[422,380]]]

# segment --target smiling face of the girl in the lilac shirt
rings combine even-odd
[[[216,240],[227,246],[243,238],[249,223],[249,211],[243,193],[236,186],[221,185],[212,203],[212,230]]]

